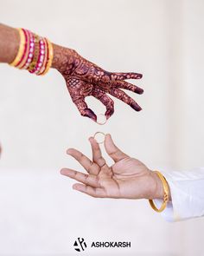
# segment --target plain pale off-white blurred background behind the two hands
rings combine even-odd
[[[133,82],[144,89],[132,95],[143,111],[115,100],[115,115],[99,126],[80,116],[55,70],[37,77],[0,66],[1,256],[78,255],[78,237],[88,245],[131,241],[83,255],[203,255],[204,219],[167,223],[145,200],[93,199],[60,174],[82,171],[66,149],[91,156],[87,139],[97,131],[152,169],[204,166],[203,10],[202,0],[0,0],[1,23],[48,36],[107,70],[143,73]]]

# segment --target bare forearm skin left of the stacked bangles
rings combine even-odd
[[[12,62],[16,57],[19,44],[18,31],[0,23],[0,62]]]

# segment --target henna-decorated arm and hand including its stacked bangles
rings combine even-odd
[[[38,36],[27,29],[13,29],[0,24],[0,62],[9,63],[34,75],[46,75],[50,68],[57,69],[64,77],[67,89],[80,115],[97,121],[97,115],[88,108],[85,98],[93,96],[105,105],[105,117],[114,113],[110,94],[136,111],[142,110],[123,89],[143,94],[128,79],[140,79],[135,72],[110,72],[80,56],[74,49],[51,43],[47,37]]]

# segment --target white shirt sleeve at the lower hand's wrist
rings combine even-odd
[[[171,199],[163,211],[167,221],[204,216],[204,168],[188,172],[161,172],[169,183]],[[159,206],[161,200],[156,200]]]

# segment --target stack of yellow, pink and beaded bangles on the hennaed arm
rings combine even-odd
[[[37,36],[29,30],[18,29],[20,45],[11,66],[27,69],[35,75],[45,75],[53,62],[53,45],[45,37]]]

